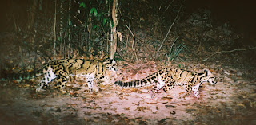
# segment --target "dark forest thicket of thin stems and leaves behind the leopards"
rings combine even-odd
[[[112,1],[13,0],[0,5],[2,67],[14,67],[21,58],[37,62],[110,54]],[[174,61],[174,57],[202,61],[213,53],[254,48],[254,6],[254,1],[231,0],[118,1],[115,57],[136,62]],[[237,54],[234,59],[242,57],[242,61],[255,55],[254,51]],[[248,60],[254,64],[253,58]]]

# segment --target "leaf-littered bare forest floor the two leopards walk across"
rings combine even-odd
[[[160,62],[131,64],[140,72],[154,72]],[[137,66],[137,67],[136,67]],[[206,67],[190,64],[190,67]],[[185,89],[159,91],[154,99],[143,88],[120,88],[100,84],[89,92],[86,84],[68,85],[69,96],[61,95],[54,85],[36,93],[34,82],[1,82],[1,124],[256,124],[256,79],[246,77],[246,69],[207,66],[218,78],[214,86],[202,84],[200,97],[185,99]],[[149,70],[153,69],[153,70]],[[120,72],[128,72],[129,66]],[[128,76],[129,73],[122,73]],[[141,73],[131,78],[146,76]],[[129,76],[128,76],[129,77]]]

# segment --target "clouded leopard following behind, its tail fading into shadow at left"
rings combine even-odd
[[[11,79],[30,79],[34,76],[42,76],[39,80],[36,92],[39,92],[43,86],[46,86],[51,80],[57,79],[57,88],[60,92],[66,93],[66,82],[70,76],[86,77],[86,82],[91,91],[94,79],[106,80],[106,70],[116,72],[118,65],[116,61],[106,59],[104,61],[87,61],[83,59],[62,59],[51,61],[44,64],[41,68],[35,69],[32,72],[12,74]]]

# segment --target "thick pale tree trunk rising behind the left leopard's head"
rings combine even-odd
[[[117,7],[118,7],[118,0],[113,0],[112,19],[113,19],[114,25],[112,27],[113,40],[110,41],[110,59],[114,59],[114,53],[117,51],[117,40],[118,40],[118,36],[117,36],[117,25],[118,25]]]

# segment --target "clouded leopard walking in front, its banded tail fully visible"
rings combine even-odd
[[[154,72],[150,76],[142,80],[134,80],[129,82],[116,81],[114,84],[124,88],[138,88],[147,84],[154,84],[152,88],[152,97],[154,93],[162,89],[167,92],[174,88],[174,86],[186,85],[186,95],[194,92],[194,96],[198,97],[198,88],[200,84],[209,82],[216,84],[216,78],[208,69],[204,69],[202,73],[190,72],[179,68],[164,68],[158,72]],[[184,96],[184,97],[185,97]]]

